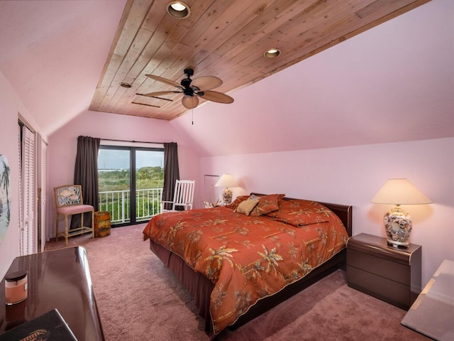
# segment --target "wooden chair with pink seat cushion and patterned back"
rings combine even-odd
[[[58,237],[65,237],[65,245],[68,245],[68,237],[78,236],[86,232],[92,232],[94,238],[94,207],[92,205],[84,205],[82,199],[82,186],[81,185],[64,185],[54,188],[55,205],[57,206],[57,224],[55,225],[55,240]],[[92,212],[92,227],[84,226],[84,213]],[[60,215],[65,216],[65,232],[58,232],[58,222]],[[69,229],[68,216],[81,215],[80,227],[76,229]]]

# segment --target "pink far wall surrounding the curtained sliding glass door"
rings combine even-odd
[[[48,232],[55,236],[55,198],[53,188],[72,183],[77,153],[77,136],[126,141],[177,142],[179,175],[182,179],[196,180],[194,206],[201,207],[203,177],[200,176],[199,156],[175,131],[169,121],[146,119],[104,112],[83,112],[57,130],[49,138],[49,198]]]

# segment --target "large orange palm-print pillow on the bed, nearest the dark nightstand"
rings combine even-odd
[[[328,222],[333,215],[331,210],[319,202],[301,199],[279,200],[279,210],[266,214],[267,217],[294,227]]]

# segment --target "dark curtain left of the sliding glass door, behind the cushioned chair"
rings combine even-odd
[[[82,199],[84,204],[92,205],[98,210],[98,151],[101,140],[79,136],[77,138],[77,154],[74,166],[74,185],[82,185]],[[80,215],[71,219],[71,229],[80,226]],[[84,226],[92,226],[91,213],[84,213]]]

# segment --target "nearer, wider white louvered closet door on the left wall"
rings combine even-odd
[[[37,251],[35,227],[35,134],[21,126],[21,256]]]

